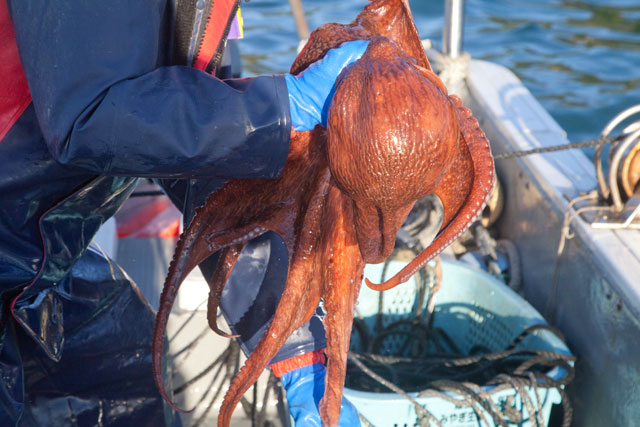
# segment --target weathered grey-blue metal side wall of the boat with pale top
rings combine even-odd
[[[462,91],[494,155],[569,144],[504,67],[470,60]],[[626,139],[638,147],[633,129]],[[578,358],[568,387],[574,425],[634,426],[640,416],[640,193],[636,188],[619,211],[600,202],[606,195],[593,193],[603,187],[598,164],[576,149],[497,159],[504,212],[495,229],[518,248],[522,294],[562,331]],[[609,175],[615,188],[617,170]]]

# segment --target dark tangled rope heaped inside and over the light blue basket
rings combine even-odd
[[[369,392],[391,391],[404,397],[414,406],[421,427],[443,426],[446,422],[441,422],[418,402],[424,397],[446,400],[457,408],[471,408],[480,425],[498,426],[518,424],[526,419],[525,412],[516,408],[514,399],[520,397],[531,425],[544,426],[540,390],[555,388],[563,407],[562,426],[569,427],[573,410],[564,387],[574,378],[576,358],[564,353],[516,348],[536,331],[549,331],[564,342],[562,333],[549,325],[533,325],[503,351],[474,345],[469,354],[464,354],[444,330],[434,327],[433,319],[438,313],[433,312],[432,301],[441,286],[441,278],[436,274],[436,267],[429,268],[416,276],[418,305],[424,303],[422,306],[427,307],[428,313],[413,313],[410,318],[386,327],[382,326],[380,314],[373,326],[375,332],[356,316],[353,330],[363,352],[349,352],[345,386]],[[385,270],[383,268],[383,276]],[[378,311],[381,310],[379,304]],[[389,352],[394,354],[385,354]],[[564,370],[559,379],[549,376],[555,367]],[[515,390],[517,396],[511,395],[498,405],[495,394],[509,389]],[[364,426],[374,425],[362,414],[360,420]]]

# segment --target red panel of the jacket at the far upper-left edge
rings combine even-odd
[[[0,0],[0,141],[31,103],[7,2]]]

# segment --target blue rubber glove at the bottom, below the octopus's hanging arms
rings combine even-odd
[[[318,404],[324,395],[325,373],[324,365],[316,363],[287,372],[280,377],[287,392],[289,412],[296,426],[322,427]],[[356,408],[344,397],[338,426],[360,426]]]

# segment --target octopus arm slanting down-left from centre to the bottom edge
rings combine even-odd
[[[315,311],[320,302],[320,289],[312,289],[314,280],[316,256],[314,251],[320,239],[319,226],[329,188],[329,170],[325,169],[315,185],[315,190],[304,213],[304,219],[298,224],[300,230],[309,232],[299,233],[296,242],[289,274],[285,283],[282,297],[276,308],[271,324],[264,336],[247,359],[244,366],[236,374],[220,407],[218,426],[228,426],[231,414],[240,401],[242,395],[254,384],[269,361],[284,345],[289,336],[298,329]]]

